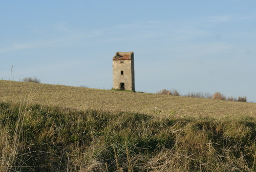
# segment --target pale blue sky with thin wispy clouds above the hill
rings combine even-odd
[[[256,102],[255,8],[254,0],[0,0],[0,77],[111,89],[112,57],[132,51],[137,91]]]

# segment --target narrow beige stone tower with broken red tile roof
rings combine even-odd
[[[113,89],[135,91],[133,52],[117,52],[113,57]]]

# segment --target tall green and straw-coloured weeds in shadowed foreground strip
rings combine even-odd
[[[1,171],[255,171],[254,117],[0,103]]]

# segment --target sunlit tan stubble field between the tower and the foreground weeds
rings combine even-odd
[[[254,103],[3,80],[0,81],[0,97],[5,101],[29,101],[80,110],[102,109],[146,114],[161,111],[161,114],[164,115],[214,117],[256,115],[256,104]]]

